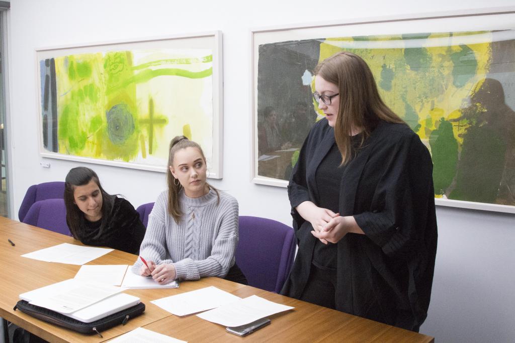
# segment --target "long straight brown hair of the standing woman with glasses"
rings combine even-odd
[[[314,71],[339,91],[339,110],[334,136],[341,153],[341,164],[351,156],[352,129],[363,129],[361,146],[381,120],[406,124],[383,102],[367,63],[352,52],[340,51],[320,62]],[[407,124],[406,124],[407,125]]]

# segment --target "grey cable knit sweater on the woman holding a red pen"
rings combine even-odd
[[[191,198],[181,190],[179,203],[183,213],[179,223],[168,214],[168,190],[159,194],[148,217],[147,231],[140,255],[156,264],[173,263],[177,278],[225,277],[234,265],[238,244],[238,202],[231,195],[216,192]],[[139,274],[140,259],[132,266]]]

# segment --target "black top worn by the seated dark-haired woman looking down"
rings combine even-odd
[[[104,232],[100,234],[102,222],[106,221]],[[111,214],[96,222],[89,222],[82,217],[80,223],[83,237],[80,241],[86,245],[106,246],[131,254],[139,254],[141,241],[145,236],[145,226],[139,213],[124,198],[116,197]],[[69,225],[68,225],[69,226]]]

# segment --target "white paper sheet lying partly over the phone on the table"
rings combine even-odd
[[[248,298],[220,306],[217,309],[199,313],[197,317],[222,324],[226,327],[238,327],[291,309],[294,308],[252,295]]]

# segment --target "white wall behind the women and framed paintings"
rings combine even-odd
[[[248,4],[253,5],[248,5]],[[10,10],[10,124],[13,218],[26,189],[63,180],[78,163],[38,154],[35,49],[76,43],[221,30],[224,35],[224,179],[213,184],[239,201],[243,215],[290,224],[285,188],[250,182],[250,29],[298,23],[345,21],[353,17],[397,15],[485,7],[484,0],[415,2],[369,0],[323,2],[262,0],[16,0]],[[488,5],[515,5],[490,0]],[[155,201],[164,174],[90,165],[106,190],[134,205]],[[515,216],[441,208],[433,300],[421,332],[438,341],[515,339]]]

